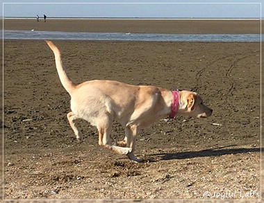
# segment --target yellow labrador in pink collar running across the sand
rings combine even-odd
[[[77,125],[80,118],[97,127],[99,145],[127,155],[135,162],[142,161],[134,155],[138,132],[161,118],[177,115],[206,118],[213,110],[206,107],[201,97],[191,91],[170,91],[154,86],[127,85],[113,80],[92,80],[75,85],[69,80],[60,58],[60,51],[46,41],[55,55],[58,76],[71,96],[72,112],[67,114],[76,138],[83,138]],[[125,128],[123,141],[110,143],[110,130],[116,120]]]

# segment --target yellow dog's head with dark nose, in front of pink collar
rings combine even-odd
[[[184,114],[197,118],[206,118],[211,116],[213,109],[204,105],[203,100],[199,94],[192,91],[180,91],[180,101],[177,114]]]

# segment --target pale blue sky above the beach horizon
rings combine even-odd
[[[19,2],[19,3],[17,3]],[[27,2],[27,3],[23,3]],[[45,2],[45,3],[42,3]],[[56,2],[56,3],[54,3]],[[74,3],[79,2],[79,3]],[[98,3],[100,2],[100,3]],[[113,3],[120,2],[120,3]],[[140,3],[138,3],[140,2]],[[3,4],[4,3],[4,4]],[[1,0],[4,17],[195,17],[195,18],[259,18],[261,3],[257,1],[59,1]],[[264,10],[264,9],[263,9]]]

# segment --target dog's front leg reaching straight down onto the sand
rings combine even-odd
[[[142,159],[138,159],[134,155],[135,151],[135,141],[137,139],[139,132],[139,127],[137,125],[128,125],[125,128],[125,139],[126,139],[126,148],[132,148],[132,152],[130,152],[127,156],[131,161],[134,162],[142,162]]]

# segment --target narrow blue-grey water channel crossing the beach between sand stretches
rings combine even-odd
[[[3,39],[64,39],[154,42],[261,42],[260,34],[66,33],[38,30],[1,30]],[[262,39],[261,39],[262,38]]]

